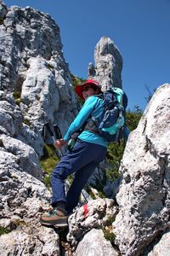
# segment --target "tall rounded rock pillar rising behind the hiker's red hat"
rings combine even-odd
[[[102,90],[122,88],[122,55],[111,38],[103,37],[94,50],[95,67],[88,66],[88,78],[99,81]]]

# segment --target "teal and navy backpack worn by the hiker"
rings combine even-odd
[[[127,95],[122,89],[114,87],[99,97],[105,103],[104,113],[100,120],[91,117],[85,130],[99,133],[99,136],[105,137],[108,143],[116,142],[124,133]]]

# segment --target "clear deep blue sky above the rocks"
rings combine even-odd
[[[3,0],[51,15],[71,73],[86,79],[94,47],[111,38],[122,54],[128,108],[144,109],[148,90],[170,83],[170,0]]]

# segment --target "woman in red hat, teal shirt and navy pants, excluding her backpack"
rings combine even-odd
[[[104,101],[96,95],[101,93],[99,83],[87,80],[77,84],[77,95],[85,102],[76,119],[71,123],[63,139],[56,141],[55,146],[62,148],[71,139],[71,135],[80,130],[90,116],[100,119],[104,112]],[[77,206],[79,196],[88,178],[92,175],[99,162],[105,159],[107,142],[104,137],[93,131],[84,130],[77,138],[75,146],[68,150],[65,156],[54,168],[51,177],[53,190],[52,211],[42,215],[40,222],[45,225],[65,226],[68,214]],[[65,178],[75,173],[71,187],[65,195]]]

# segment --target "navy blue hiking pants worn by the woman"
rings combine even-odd
[[[107,148],[78,140],[74,148],[67,151],[52,172],[53,190],[52,207],[59,201],[66,203],[66,211],[71,213],[77,206],[79,196],[88,178],[92,175],[99,162],[105,159]],[[75,172],[74,180],[65,196],[65,178]]]

